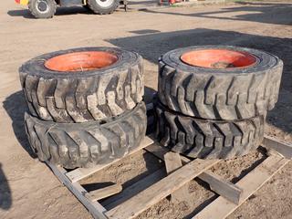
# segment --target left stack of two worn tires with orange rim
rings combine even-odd
[[[40,161],[68,169],[111,162],[147,127],[142,58],[110,47],[42,55],[19,68],[26,134]]]

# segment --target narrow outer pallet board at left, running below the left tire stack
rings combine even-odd
[[[92,214],[95,219],[107,219],[104,214],[107,210],[100,203],[92,203],[88,198],[86,198],[85,194],[87,191],[79,183],[71,183],[66,176],[67,171],[64,168],[58,168],[56,165],[53,165],[49,162],[46,163],[52,172],[54,172],[57,179],[78,198],[79,202],[89,210],[89,213]]]

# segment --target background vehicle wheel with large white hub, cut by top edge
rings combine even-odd
[[[99,15],[113,13],[120,5],[120,0],[88,0],[89,8]]]

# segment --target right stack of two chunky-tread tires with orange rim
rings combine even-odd
[[[276,104],[283,62],[263,51],[185,47],[159,59],[157,136],[192,158],[228,159],[255,150]]]

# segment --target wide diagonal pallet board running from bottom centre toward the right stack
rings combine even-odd
[[[172,174],[163,178],[160,182],[151,185],[146,190],[138,193],[105,214],[109,218],[133,218],[150,208],[151,205],[158,203],[217,162],[219,161],[203,161],[200,159],[189,162],[176,172],[172,172]]]

